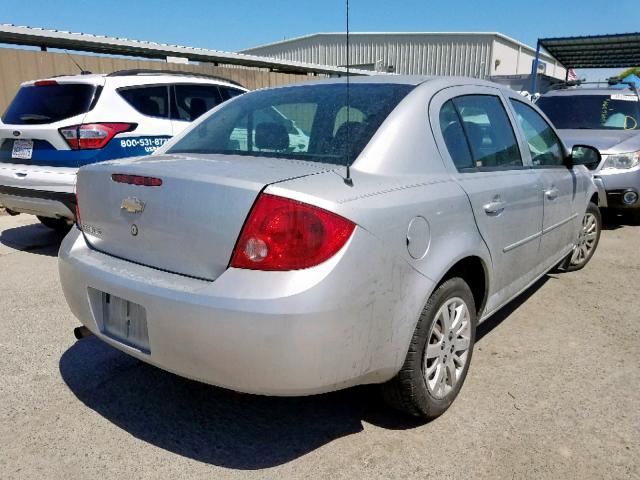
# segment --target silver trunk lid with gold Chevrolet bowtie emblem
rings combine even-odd
[[[245,219],[266,185],[333,168],[232,155],[154,155],[104,162],[78,173],[80,217],[87,241],[99,251],[215,280],[227,268]],[[113,174],[159,178],[162,185],[119,183]],[[128,211],[123,202],[142,211]]]

